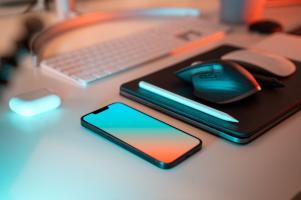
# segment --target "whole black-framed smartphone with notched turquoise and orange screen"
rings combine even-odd
[[[163,169],[202,147],[200,139],[119,102],[84,115],[81,124]]]

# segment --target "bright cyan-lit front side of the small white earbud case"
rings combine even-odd
[[[13,97],[9,101],[10,109],[25,117],[31,117],[53,110],[60,105],[60,98],[53,94],[30,101]]]

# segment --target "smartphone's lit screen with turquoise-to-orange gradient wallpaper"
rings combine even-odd
[[[84,120],[164,163],[170,163],[200,142],[198,139],[121,103]]]

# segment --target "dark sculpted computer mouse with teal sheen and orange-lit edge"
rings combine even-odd
[[[236,102],[261,90],[250,72],[231,61],[202,62],[177,71],[176,76],[192,83],[195,96],[217,104]]]

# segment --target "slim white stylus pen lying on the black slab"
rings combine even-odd
[[[144,90],[153,92],[157,95],[160,95],[162,97],[165,97],[165,98],[173,100],[173,101],[176,101],[176,102],[181,103],[185,106],[188,106],[190,108],[196,109],[196,110],[201,111],[201,112],[204,112],[204,113],[206,113],[208,115],[211,115],[211,116],[214,116],[216,118],[219,118],[219,119],[222,119],[222,120],[225,120],[225,121],[235,122],[235,123],[239,122],[237,119],[235,119],[234,117],[230,116],[227,113],[224,113],[224,112],[219,111],[215,108],[206,106],[202,103],[192,101],[188,98],[185,98],[183,96],[180,96],[180,95],[172,93],[172,92],[169,92],[167,90],[164,90],[164,89],[162,89],[160,87],[157,87],[155,85],[152,85],[150,83],[140,81],[139,82],[139,88],[142,88]]]

